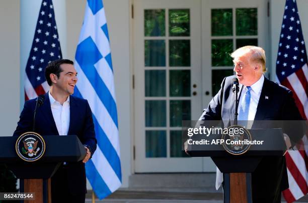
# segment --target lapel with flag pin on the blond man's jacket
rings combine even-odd
[[[266,112],[269,110],[269,95],[268,79],[264,77],[264,83],[255,115],[255,120],[263,120],[263,118],[266,116]]]

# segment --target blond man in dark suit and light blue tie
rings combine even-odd
[[[238,120],[302,120],[292,92],[265,78],[266,57],[261,47],[241,47],[231,56],[236,76],[223,79],[221,89],[203,110],[199,120],[235,120],[235,96],[232,90],[234,78],[238,78],[240,83]],[[292,137],[291,142],[298,139],[300,137]],[[285,141],[287,147],[290,147],[287,135]],[[221,181],[216,177],[216,188],[220,186],[219,183]],[[281,202],[281,191],[286,188],[288,179],[285,157],[263,157],[252,173],[253,202]]]

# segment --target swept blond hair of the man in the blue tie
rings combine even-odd
[[[265,51],[261,47],[256,46],[245,46],[234,51],[230,56],[234,58],[238,58],[244,56],[245,54],[251,54],[250,61],[253,63],[258,63],[262,66],[262,71],[265,73],[266,69],[266,56]]]

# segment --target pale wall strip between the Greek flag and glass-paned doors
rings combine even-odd
[[[128,0],[104,0],[111,43],[115,90],[117,97],[121,166],[123,187],[128,186],[131,174],[131,77],[129,52],[129,2]]]

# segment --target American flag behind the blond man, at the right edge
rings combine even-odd
[[[308,67],[307,53],[302,36],[300,20],[295,0],[286,0],[276,62],[279,82],[293,91],[295,103],[301,116],[308,118]],[[302,146],[308,143],[306,136]],[[285,155],[289,188],[283,191],[288,203],[308,192],[307,158],[308,150],[288,151]]]

